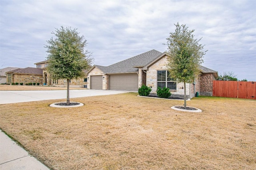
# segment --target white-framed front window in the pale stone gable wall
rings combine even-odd
[[[160,88],[170,88],[170,90],[176,90],[176,82],[168,77],[168,70],[158,70],[157,71],[157,86]]]

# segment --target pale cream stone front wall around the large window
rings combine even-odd
[[[151,93],[156,93],[157,89],[157,71],[158,70],[168,70],[166,63],[168,63],[167,56],[162,57],[159,61],[152,64],[147,70],[146,74],[146,85],[152,88]],[[183,89],[182,89],[183,87]],[[184,97],[184,83],[177,83],[176,90],[171,90],[172,96]],[[186,83],[186,95],[187,98],[191,98],[190,94],[190,84]]]

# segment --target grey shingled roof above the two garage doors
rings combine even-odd
[[[98,67],[105,74],[138,72],[139,67],[145,66],[161,54],[162,53],[159,51],[151,50],[146,53],[142,53],[140,55],[136,55],[132,58],[126,59],[124,61],[112,64],[110,66],[94,66]]]

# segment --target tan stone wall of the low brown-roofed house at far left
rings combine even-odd
[[[34,75],[34,74],[13,74],[12,83],[40,83],[42,85],[43,76],[42,75]]]

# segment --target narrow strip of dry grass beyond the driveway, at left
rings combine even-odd
[[[85,88],[72,88],[70,90],[83,90]],[[16,86],[16,85],[4,85],[0,84],[0,90],[67,90],[66,87],[56,87],[56,86]]]

